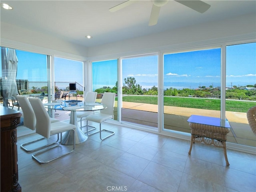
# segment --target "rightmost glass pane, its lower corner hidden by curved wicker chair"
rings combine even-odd
[[[226,117],[229,142],[256,147],[246,112],[256,105],[256,43],[226,47]]]

